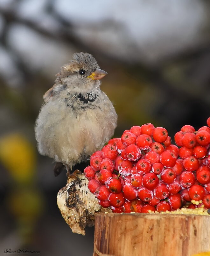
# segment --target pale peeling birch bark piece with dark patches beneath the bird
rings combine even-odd
[[[74,172],[66,186],[59,190],[57,205],[72,232],[82,235],[86,226],[94,226],[96,213],[107,211],[88,190],[88,179],[81,172]]]

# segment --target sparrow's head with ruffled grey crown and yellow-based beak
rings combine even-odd
[[[73,60],[61,67],[56,81],[70,88],[91,90],[100,86],[99,80],[106,74],[91,54],[81,52],[74,53]]]

